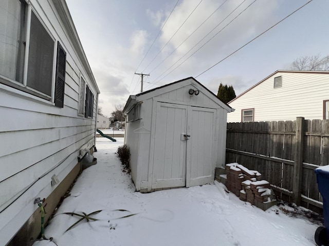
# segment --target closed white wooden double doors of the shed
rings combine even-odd
[[[215,109],[157,103],[153,189],[191,187],[214,180],[215,112]]]

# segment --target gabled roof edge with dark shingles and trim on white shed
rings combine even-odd
[[[176,85],[176,84],[179,84],[179,83],[183,83],[184,81],[187,81],[187,80],[193,80],[197,85],[199,85],[203,90],[204,92],[206,93],[209,93],[210,96],[213,97],[213,100],[218,104],[218,105],[221,105],[223,108],[225,108],[228,112],[231,112],[231,111],[234,111],[229,105],[227,105],[226,103],[224,103],[220,98],[218,98],[214,93],[212,93],[208,88],[206,88],[204,85],[202,85],[199,81],[197,81],[195,78],[193,77],[188,77],[188,78],[184,78],[184,79],[180,79],[178,81],[175,81],[173,83],[170,83],[170,84],[167,84],[167,85],[164,85],[164,86],[160,86],[160,87],[157,87],[157,88],[154,88],[154,89],[151,89],[151,90],[148,90],[148,91],[143,91],[141,93],[138,93],[136,95],[130,95],[128,100],[127,100],[127,103],[126,105],[124,106],[124,109],[123,109],[123,113],[127,113],[127,110],[130,110],[132,108],[133,105],[137,104],[138,103],[138,97],[141,97],[142,95],[150,95],[150,97],[153,96],[154,93],[152,93],[151,95],[151,92],[155,92],[157,90],[160,90],[162,88],[168,88],[168,91],[171,91],[171,88],[173,85]],[[183,85],[184,86],[184,85]],[[159,92],[160,93],[160,92]],[[147,99],[147,98],[143,98],[143,99]]]

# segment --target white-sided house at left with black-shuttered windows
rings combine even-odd
[[[27,245],[35,198],[48,219],[95,145],[100,91],[64,0],[0,1],[0,23],[0,244]]]

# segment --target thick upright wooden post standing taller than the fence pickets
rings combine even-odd
[[[304,117],[296,118],[296,137],[295,137],[295,164],[294,164],[294,183],[293,199],[297,206],[301,201],[302,174],[303,174],[303,151],[304,151]]]

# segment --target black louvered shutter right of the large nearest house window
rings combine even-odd
[[[64,107],[65,66],[66,66],[66,52],[58,42],[54,103],[55,106],[59,108]]]

